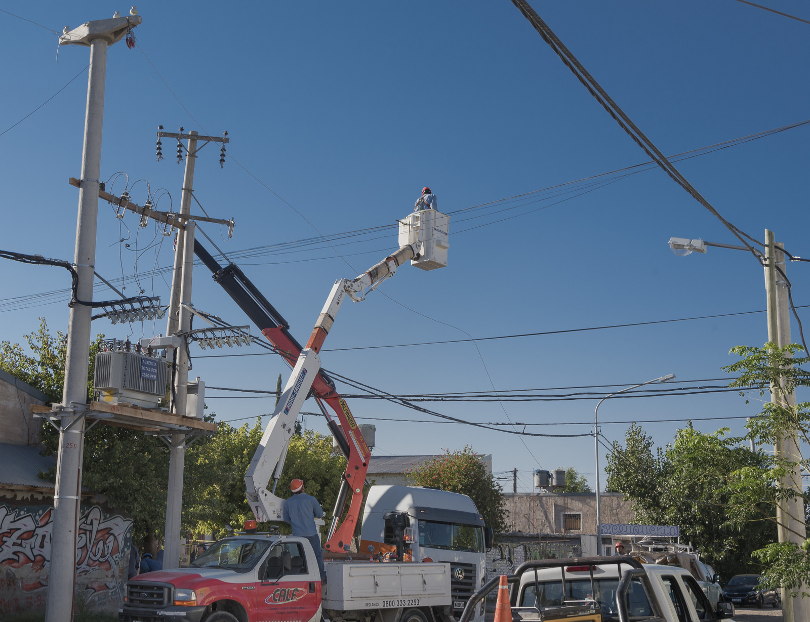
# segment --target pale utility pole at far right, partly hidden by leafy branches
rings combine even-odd
[[[768,340],[779,347],[791,343],[791,309],[787,294],[787,262],[782,244],[774,242],[774,232],[765,229],[765,292],[768,297]],[[777,270],[778,267],[778,270]],[[779,274],[782,271],[782,274]],[[771,386],[770,399],[772,403],[782,403],[789,407],[795,406],[794,394],[783,394],[780,387]],[[794,436],[779,439],[774,445],[774,456],[791,462],[801,459],[799,445]],[[782,488],[792,488],[801,494],[802,478],[799,467],[782,478]],[[806,538],[804,525],[804,503],[799,497],[789,501],[782,501],[776,506],[777,533],[779,542],[802,543]],[[810,607],[801,597],[791,599],[787,597],[788,590],[782,589],[782,615],[785,622],[799,622],[808,620]],[[799,590],[801,593],[801,590]]]

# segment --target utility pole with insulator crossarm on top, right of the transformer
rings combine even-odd
[[[183,128],[180,128],[182,132]],[[196,136],[197,132],[190,132]],[[174,252],[172,296],[168,305],[166,334],[189,330],[191,326],[191,278],[194,268],[194,223],[187,216],[191,213],[191,193],[194,191],[194,164],[197,161],[197,139],[189,138],[185,155],[185,174],[180,203],[180,221],[185,230],[177,232],[177,249]],[[185,218],[184,218],[185,216]],[[189,356],[185,348],[187,338],[175,354],[174,398],[172,411],[186,414],[189,380]],[[185,462],[185,434],[174,433],[168,453],[168,495],[166,498],[166,526],[164,530],[164,569],[180,566],[180,522],[183,509],[183,468]]]

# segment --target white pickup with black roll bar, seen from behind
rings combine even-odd
[[[469,622],[499,578],[471,596],[458,622]],[[715,622],[734,615],[731,603],[712,607],[688,570],[632,556],[531,560],[507,582],[513,620]]]

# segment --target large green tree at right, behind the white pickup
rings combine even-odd
[[[752,552],[775,539],[764,503],[736,507],[740,471],[765,469],[770,456],[740,446],[726,429],[706,434],[689,427],[676,432],[667,449],[653,454],[652,438],[633,424],[625,448],[617,442],[608,454],[608,489],[633,501],[634,522],[679,525],[682,540],[691,541],[722,577],[759,573]]]

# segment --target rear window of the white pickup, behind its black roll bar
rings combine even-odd
[[[565,599],[566,600],[595,600],[602,607],[602,614],[607,620],[616,616],[616,587],[619,579],[594,579],[594,589],[596,594],[590,591],[590,577],[587,579],[566,579]],[[562,582],[539,582],[540,591],[539,603],[534,583],[530,583],[523,590],[521,607],[559,607],[563,604]],[[652,616],[652,608],[647,600],[642,582],[637,578],[630,582],[628,590],[628,613],[630,616]]]

